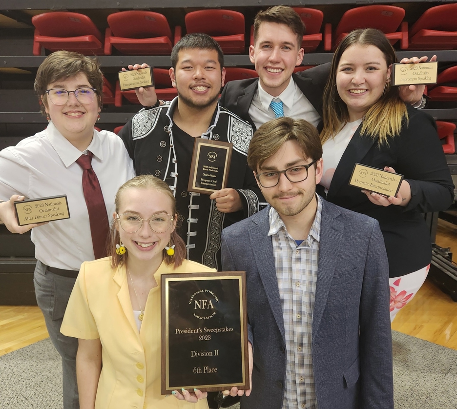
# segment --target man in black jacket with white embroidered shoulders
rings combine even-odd
[[[155,175],[173,190],[187,258],[218,268],[222,229],[256,213],[259,199],[263,201],[247,164],[253,131],[249,123],[217,102],[225,68],[216,41],[201,33],[183,37],[173,48],[171,64],[170,77],[178,97],[169,104],[159,106],[157,102],[156,107],[141,110],[119,135],[136,173]],[[151,99],[155,91],[147,88],[137,92],[140,102],[141,93],[148,94],[148,101],[157,100]],[[194,138],[233,144],[228,187],[210,196],[187,191]]]

